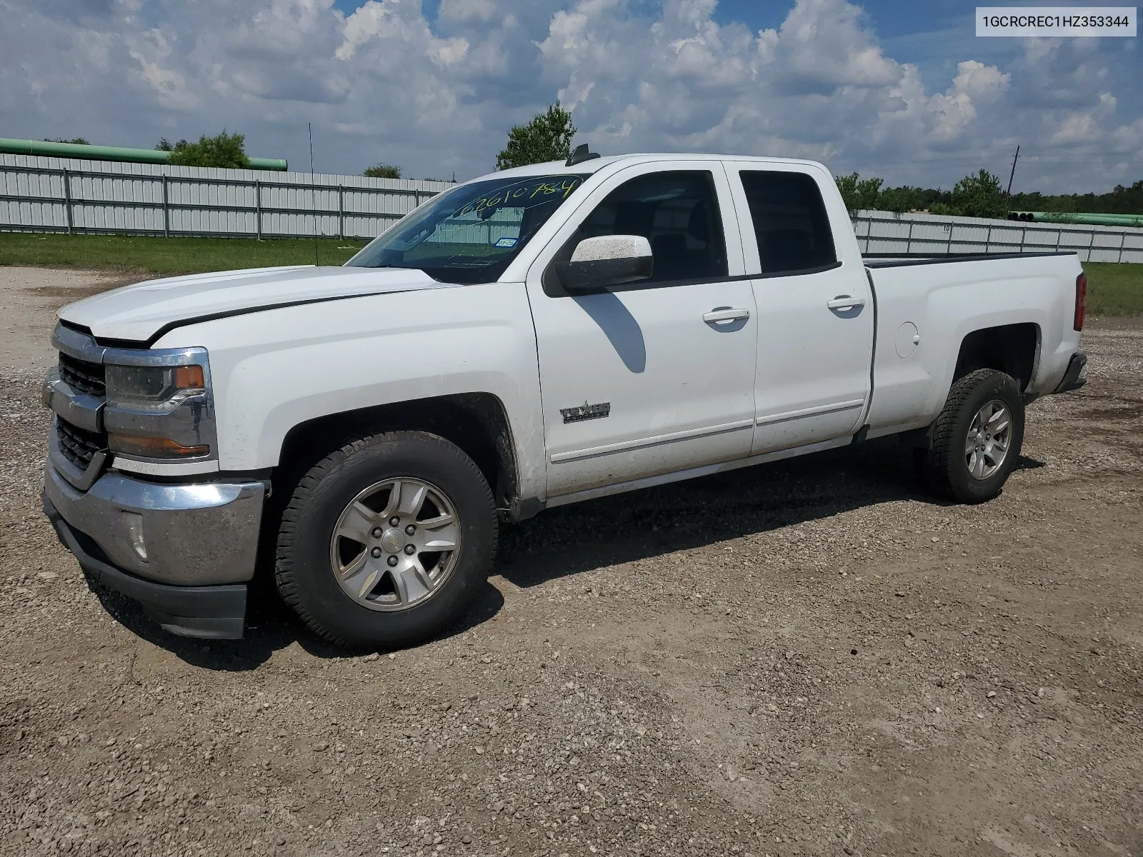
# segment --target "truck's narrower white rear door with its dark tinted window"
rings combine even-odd
[[[860,256],[836,246],[852,229],[828,211],[833,179],[799,165],[729,163],[743,253],[758,306],[752,452],[857,431],[870,394],[873,301]],[[832,221],[832,223],[831,223]],[[855,247],[855,245],[854,245]],[[855,251],[854,251],[855,253]]]

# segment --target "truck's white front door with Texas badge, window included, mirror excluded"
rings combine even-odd
[[[652,277],[568,295],[553,263],[607,234],[646,237]],[[580,205],[528,275],[550,502],[750,454],[758,325],[744,273],[718,161],[630,167]]]

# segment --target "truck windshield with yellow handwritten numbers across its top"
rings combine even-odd
[[[585,178],[565,173],[454,187],[345,264],[415,267],[446,282],[491,282]]]

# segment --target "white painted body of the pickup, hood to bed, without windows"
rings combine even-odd
[[[155,347],[205,346],[224,471],[275,466],[289,431],[315,417],[480,392],[507,416],[521,498],[550,505],[841,446],[862,425],[870,436],[927,425],[948,395],[960,343],[976,329],[1038,327],[1033,394],[1055,389],[1078,347],[1074,256],[868,273],[832,178],[807,161],[632,155],[519,171],[581,168],[594,175],[498,282],[446,285],[394,269],[263,269],[141,283],[61,314],[102,337],[147,341],[169,329]],[[838,266],[758,274],[737,177],[746,168],[814,178]],[[544,269],[604,197],[672,169],[711,170],[729,278],[544,293]],[[845,309],[840,296],[864,305]],[[726,307],[749,315],[704,321]],[[916,329],[925,330],[920,344]],[[905,344],[916,345],[908,360],[898,357],[902,330],[912,330]],[[562,421],[561,408],[604,402],[606,418]]]

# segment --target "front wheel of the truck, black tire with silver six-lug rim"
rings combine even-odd
[[[449,516],[454,523],[440,523]],[[488,482],[458,447],[425,432],[376,434],[326,456],[298,482],[282,513],[274,578],[302,622],[331,643],[413,646],[463,616],[491,568],[497,528]]]

